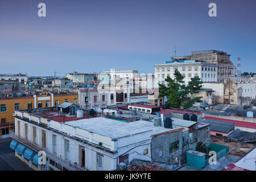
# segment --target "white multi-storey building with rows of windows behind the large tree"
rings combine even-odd
[[[217,81],[217,65],[203,61],[184,60],[184,61],[167,61],[167,64],[156,64],[155,78],[159,79],[160,84],[167,84],[164,81],[167,76],[174,79],[174,72],[177,69],[184,76],[185,85],[193,77],[200,77],[203,82]]]

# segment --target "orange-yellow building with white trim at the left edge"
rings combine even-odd
[[[49,93],[41,96],[0,98],[0,138],[9,137],[9,130],[14,131],[13,114],[15,110],[51,107],[63,104],[63,102],[79,104],[79,95]]]

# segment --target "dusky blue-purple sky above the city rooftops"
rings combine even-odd
[[[46,17],[38,4],[46,4]],[[209,3],[217,16],[210,17]],[[0,73],[154,73],[175,55],[216,49],[256,72],[255,0],[0,0]]]

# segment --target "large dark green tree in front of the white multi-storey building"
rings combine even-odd
[[[174,72],[174,79],[170,76],[167,76],[165,81],[167,82],[167,86],[164,84],[159,84],[159,96],[167,97],[167,102],[171,107],[180,108],[183,106],[184,109],[188,109],[192,107],[193,104],[201,97],[195,97],[191,99],[187,97],[188,94],[199,93],[199,89],[202,87],[203,83],[200,81],[199,77],[191,78],[191,81],[188,82],[188,85],[183,85],[184,76],[181,75],[177,69]]]

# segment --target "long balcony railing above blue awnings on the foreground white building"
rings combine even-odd
[[[28,146],[36,151],[46,152],[47,158],[54,160],[56,163],[62,165],[63,167],[67,168],[68,170],[71,170],[71,171],[85,171],[86,170],[84,168],[81,168],[77,164],[73,164],[73,163],[69,162],[66,159],[59,158],[59,156],[57,156],[56,154],[53,154],[51,151],[47,150],[46,148],[43,148],[42,146],[39,146],[38,144],[31,142],[30,140],[28,140],[26,138],[20,137],[18,134],[15,134],[13,131],[10,131],[10,137],[15,140],[18,140],[20,143],[23,143],[26,146]]]

